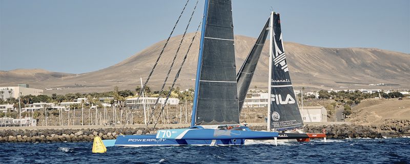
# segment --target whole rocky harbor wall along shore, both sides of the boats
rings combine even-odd
[[[98,128],[71,128],[57,127],[54,129],[44,129],[41,127],[28,128],[13,127],[12,129],[0,129],[0,142],[83,142],[92,141],[95,136],[103,139],[115,139],[121,132],[124,135],[142,134],[145,125],[128,126],[122,129],[122,126],[98,127]],[[158,129],[186,128],[186,125],[161,125]],[[250,124],[252,130],[266,130],[264,124]],[[410,136],[410,120],[390,120],[384,125],[306,125],[304,131],[308,133],[322,133],[325,130],[327,138],[382,138],[382,137],[402,137]],[[156,131],[146,130],[146,134],[156,134]]]

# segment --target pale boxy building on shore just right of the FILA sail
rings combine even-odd
[[[323,106],[299,107],[303,122],[327,122],[327,111]]]

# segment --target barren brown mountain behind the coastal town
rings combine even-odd
[[[193,33],[187,34],[178,53],[173,71],[167,84],[171,84],[182,57],[187,52]],[[194,88],[197,67],[199,34],[189,52],[176,86]],[[169,70],[178,48],[181,35],[172,37],[150,79],[149,86],[159,89]],[[255,38],[236,35],[235,52],[237,69],[248,55]],[[267,40],[266,43],[269,43]],[[0,71],[0,85],[30,84],[32,88],[60,88],[45,90],[46,94],[69,92],[101,92],[134,89],[148,77],[165,40],[121,61],[120,63],[94,72],[83,74],[55,73],[44,70]],[[268,45],[268,44],[267,44]],[[296,89],[408,89],[410,88],[410,54],[375,48],[322,48],[285,42],[286,58]],[[267,88],[269,46],[264,46],[253,79],[253,86]],[[115,56],[113,56],[115,57]],[[369,86],[384,83],[387,86]],[[347,88],[346,88],[347,87]]]

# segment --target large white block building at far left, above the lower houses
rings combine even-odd
[[[0,91],[3,91],[3,93],[0,95],[0,98],[3,97],[3,99],[7,99],[9,97],[18,98],[18,96],[20,95],[38,96],[43,94],[42,89],[29,88],[29,85],[18,85],[18,87],[0,87]]]

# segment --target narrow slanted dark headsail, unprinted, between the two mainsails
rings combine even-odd
[[[256,43],[253,45],[251,52],[249,52],[248,57],[243,62],[242,67],[236,75],[236,81],[238,81],[239,113],[242,110],[263,45],[265,44],[266,37],[269,33],[269,21],[270,18],[268,18],[267,23],[263,26],[262,32],[260,32]]]

